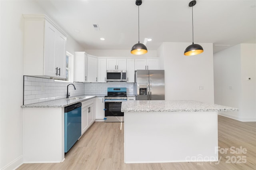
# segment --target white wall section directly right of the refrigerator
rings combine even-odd
[[[164,42],[158,48],[160,65],[165,70],[166,100],[214,103],[212,43],[199,44],[204,52],[194,56],[184,55],[190,43]],[[199,90],[199,86],[203,89]]]

